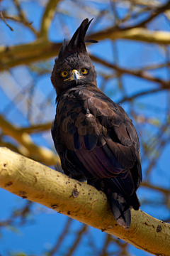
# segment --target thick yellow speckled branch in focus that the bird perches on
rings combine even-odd
[[[38,162],[0,148],[0,186],[154,255],[170,256],[170,225],[132,210],[130,230],[114,220],[106,195]]]

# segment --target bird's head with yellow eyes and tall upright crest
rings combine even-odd
[[[60,48],[51,76],[57,98],[70,87],[87,84],[96,86],[96,71],[85,46],[85,43],[97,43],[85,39],[91,21],[88,18],[82,21],[72,39],[69,42],[64,40]]]

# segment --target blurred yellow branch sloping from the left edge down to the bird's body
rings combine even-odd
[[[0,115],[0,127],[4,131],[4,134],[8,134],[13,139],[16,139],[23,145],[23,155],[29,156],[31,159],[40,161],[43,164],[54,165],[57,161],[60,162],[59,156],[53,153],[52,150],[45,148],[44,146],[37,146],[33,143],[30,135],[26,132],[10,124],[4,117]],[[21,148],[20,148],[21,151]]]

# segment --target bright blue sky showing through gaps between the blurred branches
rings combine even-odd
[[[100,4],[98,5],[98,10],[104,9],[108,5]],[[89,4],[90,1],[89,1]],[[94,1],[93,6],[96,6],[96,2]],[[8,11],[10,14],[15,14],[15,9],[13,7],[13,1],[1,1],[1,9],[3,7],[8,6]],[[43,14],[43,6],[39,6],[34,1],[21,1],[21,6],[26,11],[26,16],[30,21],[33,21],[33,26],[35,28],[40,27],[40,19]],[[70,7],[71,6],[71,7]],[[67,24],[70,36],[74,33],[77,26],[83,18],[86,18],[86,12],[79,14],[79,6],[77,9],[74,9],[71,1],[64,1],[63,4],[60,4],[60,9],[64,9],[65,14],[57,14],[62,16],[62,19]],[[73,12],[74,11],[74,12]],[[70,15],[69,12],[72,14]],[[119,8],[118,14],[120,16],[125,15],[127,9]],[[74,15],[75,14],[75,15]],[[49,31],[50,41],[61,42],[63,41],[65,35],[62,30],[61,22],[55,16],[55,20],[52,23]],[[147,14],[143,14],[139,21],[145,18]],[[78,18],[77,18],[78,17]],[[93,18],[89,15],[89,18]],[[95,21],[95,18],[94,18]],[[137,22],[137,21],[136,21]],[[13,27],[14,31],[11,32],[8,27],[4,24],[4,22],[0,21],[0,44],[13,46],[18,43],[29,43],[35,39],[33,33],[28,31],[24,26],[20,24],[13,23],[12,21],[8,21],[8,23]],[[111,20],[104,18],[98,24],[96,24],[93,28],[94,31],[99,31],[106,26],[112,26]],[[149,28],[151,29],[160,29],[169,31],[169,22],[164,18],[164,16],[159,16],[152,23],[149,24]],[[116,54],[115,54],[116,49]],[[169,51],[169,48],[167,48]],[[98,44],[89,46],[89,52],[97,55],[99,58],[103,58],[111,63],[115,62],[115,56],[117,58],[117,64],[122,68],[143,68],[145,65],[155,65],[160,63],[165,63],[167,55],[165,54],[165,50],[162,46],[157,46],[149,43],[140,43],[135,41],[123,41],[119,40],[115,42],[115,47],[113,47],[113,43],[110,40],[99,41]],[[47,64],[50,65],[52,70],[52,65],[54,63],[54,59],[52,58],[47,61]],[[40,63],[39,65],[42,65]],[[103,79],[101,78],[100,73],[105,73],[107,75],[112,75],[113,70],[103,67],[103,65],[96,65],[96,71],[98,73],[98,87],[101,86]],[[164,80],[169,79],[169,70],[167,68],[161,68],[157,71],[149,71],[150,74],[157,76],[157,78],[162,78]],[[13,124],[19,126],[26,126],[29,124],[26,110],[27,107],[25,105],[26,99],[28,99],[29,95],[25,93],[19,103],[14,105],[11,103],[15,96],[15,90],[21,90],[26,86],[30,86],[33,81],[35,81],[35,92],[33,94],[33,102],[35,102],[35,106],[32,106],[33,122],[38,120],[39,122],[50,122],[55,117],[55,90],[52,88],[50,82],[50,73],[45,73],[45,75],[38,75],[33,70],[29,70],[25,65],[21,65],[10,70],[10,73],[4,72],[0,75],[0,114],[4,113],[6,110],[6,119],[13,122]],[[131,75],[123,75],[122,77],[123,87],[126,95],[130,96],[137,92],[141,92],[143,90],[149,90],[153,88],[157,88],[158,85],[154,82],[149,82],[147,80],[143,80],[142,78],[137,78]],[[11,85],[10,85],[11,84]],[[11,87],[10,87],[11,86]],[[12,88],[13,86],[13,88]],[[11,90],[13,91],[13,96],[10,96]],[[104,90],[106,95],[112,98],[118,104],[120,100],[123,98],[123,94],[118,87],[118,80],[111,79],[106,83],[106,88]],[[16,93],[17,95],[17,93]],[[50,95],[50,103],[47,107],[43,107],[43,102],[47,95]],[[10,98],[11,97],[11,98]],[[155,118],[160,123],[165,122],[166,118],[166,110],[169,105],[169,95],[167,92],[159,92],[154,95],[147,95],[145,97],[138,97],[133,105],[130,105],[128,102],[123,103],[123,107],[131,116],[132,106],[137,114],[148,118]],[[41,108],[39,109],[39,107]],[[34,108],[35,107],[35,108]],[[33,110],[36,110],[33,113]],[[151,124],[136,124],[137,132],[142,135],[142,138],[145,137],[145,140],[149,141],[149,138],[153,133],[157,133],[158,127],[154,127]],[[146,136],[145,136],[146,134]],[[150,136],[150,137],[149,137]],[[8,140],[8,138],[6,138]],[[10,139],[9,139],[10,140]],[[39,145],[50,147],[54,149],[52,139],[50,137],[50,131],[45,132],[45,134],[33,135],[33,140]],[[170,144],[167,143],[165,146],[162,155],[159,158],[155,168],[151,171],[150,181],[152,184],[157,186],[162,186],[165,188],[169,188],[170,176],[169,176],[169,151]],[[141,152],[142,148],[141,148]],[[149,161],[148,159],[142,159],[142,169],[145,178],[145,171],[147,170]],[[146,199],[151,199],[153,203],[147,204],[144,203],[141,206],[141,209],[146,213],[154,216],[155,218],[166,219],[169,218],[169,209],[165,206],[160,206],[157,208],[157,202],[161,202],[164,200],[162,195],[159,192],[153,192],[149,188],[141,187],[138,191],[138,195],[140,197],[141,202],[145,202]],[[26,204],[26,200],[22,198],[18,198],[7,191],[0,189],[0,219],[4,220],[8,218],[11,213],[11,210],[20,208]],[[26,252],[28,254],[34,254],[37,256],[42,255],[45,250],[49,249],[54,243],[55,240],[62,233],[62,229],[64,224],[67,222],[67,217],[56,213],[54,210],[45,208],[44,206],[40,206],[37,203],[33,205],[33,215],[30,215],[28,219],[28,223],[24,226],[20,226],[16,228],[16,230],[11,227],[4,228],[1,230],[0,237],[0,254],[1,256],[9,255],[9,252]],[[72,246],[72,242],[74,241],[74,236],[81,228],[81,223],[74,220],[72,222],[69,235],[67,237],[67,241],[64,241],[64,246],[61,247],[58,255],[64,255],[64,252],[67,251],[68,247]],[[101,230],[96,230],[94,228],[90,228],[91,240],[94,241],[98,252],[100,252],[101,247],[103,245],[105,234],[101,232]],[[77,251],[74,252],[74,256],[78,255],[92,255],[91,249],[87,246],[89,242],[88,235],[84,236],[80,246]],[[113,250],[114,246],[109,248],[109,250]],[[131,255],[139,255],[139,256],[147,256],[149,255],[147,252],[143,252],[142,250],[137,250],[135,247],[130,246]],[[97,254],[98,255],[98,254]]]

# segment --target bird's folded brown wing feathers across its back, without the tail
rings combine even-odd
[[[65,138],[69,159],[75,164],[79,159],[96,178],[132,176],[128,183],[135,180],[135,186],[139,186],[142,178],[139,140],[122,107],[97,88],[95,91],[86,88],[74,90],[62,100],[57,111],[60,136]],[[130,187],[132,193],[134,185]]]

